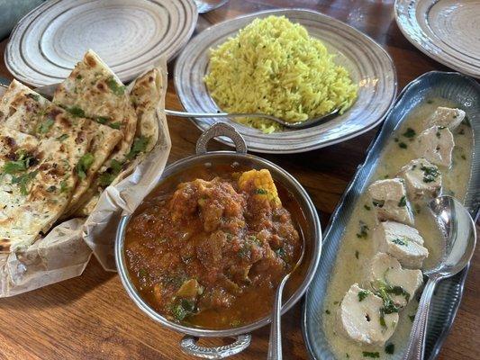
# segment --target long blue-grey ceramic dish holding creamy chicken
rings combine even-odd
[[[392,111],[388,114],[376,139],[367,149],[367,159],[358,168],[357,174],[343,194],[340,204],[331,216],[326,230],[322,261],[306,294],[303,308],[303,338],[313,359],[334,359],[330,344],[323,331],[323,303],[336,257],[340,249],[343,231],[367,185],[372,182],[382,152],[394,138],[403,121],[419,104],[430,98],[443,98],[466,111],[474,133],[471,176],[467,186],[465,205],[474,219],[480,208],[480,85],[475,80],[457,73],[432,71],[407,85]],[[462,297],[467,268],[458,275],[439,283],[430,305],[430,323],[426,340],[426,359],[439,354],[443,341],[448,335]],[[399,358],[402,353],[395,354]]]

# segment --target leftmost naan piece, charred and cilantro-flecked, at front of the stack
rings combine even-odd
[[[28,247],[68,205],[91,136],[79,126],[63,137],[71,122],[60,119],[47,131],[53,136],[42,139],[0,127],[1,252]]]

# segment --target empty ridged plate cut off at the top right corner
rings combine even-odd
[[[424,54],[480,78],[480,0],[396,0],[395,19]]]

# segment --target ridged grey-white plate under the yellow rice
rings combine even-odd
[[[180,102],[189,112],[216,112],[204,85],[209,49],[220,45],[255,18],[285,15],[302,24],[312,37],[322,40],[336,54],[336,62],[347,67],[359,85],[358,100],[343,115],[304,130],[264,134],[259,130],[231,124],[243,135],[249,150],[263,153],[294,153],[323,148],[353,138],[374,128],[385,117],[396,94],[396,74],[392,59],[374,40],[329,16],[305,10],[276,10],[249,14],[214,25],[192,39],[177,58],[174,81]],[[205,130],[215,119],[195,119]],[[231,145],[229,139],[223,143]]]

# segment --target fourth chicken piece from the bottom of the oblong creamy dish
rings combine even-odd
[[[380,221],[394,220],[413,225],[412,211],[407,203],[403,179],[377,180],[368,187],[368,193]]]

